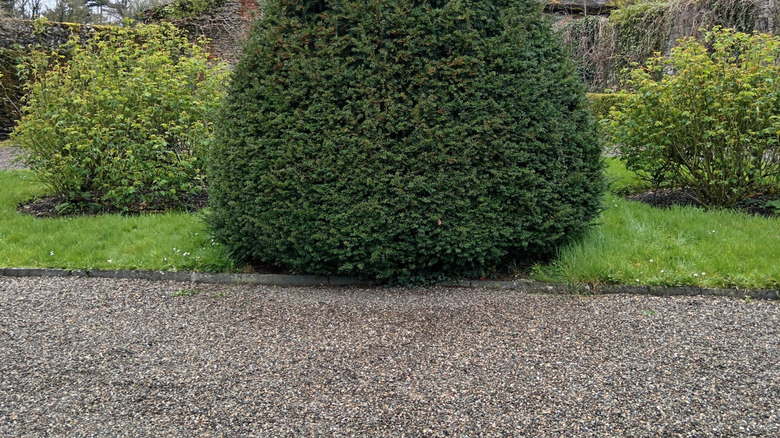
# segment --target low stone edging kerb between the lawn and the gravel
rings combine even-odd
[[[0,276],[6,277],[92,277],[156,281],[182,281],[194,283],[243,284],[263,286],[376,286],[376,283],[355,277],[320,277],[314,275],[279,274],[225,274],[191,271],[126,271],[126,270],[67,270],[45,268],[0,268]],[[599,285],[569,285],[542,283],[533,280],[463,280],[440,283],[439,286],[522,290],[531,293],[579,293],[579,294],[635,294],[635,295],[709,295],[733,298],[780,299],[780,290],[709,289],[694,286],[651,287]]]

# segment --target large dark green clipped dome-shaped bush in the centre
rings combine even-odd
[[[598,214],[588,113],[535,0],[271,2],[218,127],[210,222],[295,272],[482,275]]]

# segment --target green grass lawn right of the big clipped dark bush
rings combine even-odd
[[[620,193],[641,184],[608,160]],[[607,195],[600,225],[538,267],[568,283],[774,289],[780,282],[780,218],[692,207],[668,210]]]

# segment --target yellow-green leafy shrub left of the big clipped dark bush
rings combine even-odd
[[[13,133],[64,205],[174,209],[200,192],[225,66],[170,25],[107,27],[65,50],[31,55]]]

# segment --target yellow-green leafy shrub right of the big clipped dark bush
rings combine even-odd
[[[780,38],[716,28],[630,73],[612,111],[630,170],[730,207],[780,176]]]

